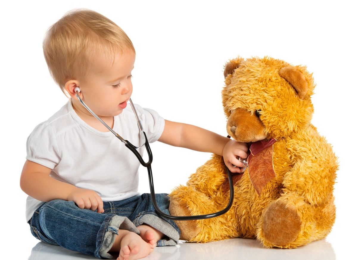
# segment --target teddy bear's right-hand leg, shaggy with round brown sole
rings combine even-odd
[[[313,206],[302,197],[285,195],[264,210],[257,239],[266,247],[296,248],[316,240],[316,232]]]

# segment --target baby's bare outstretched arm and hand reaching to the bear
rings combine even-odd
[[[173,146],[221,155],[231,172],[240,172],[238,167],[243,166],[243,163],[238,161],[236,156],[241,158],[248,156],[248,147],[245,143],[231,140],[194,125],[168,120],[165,120],[165,128],[159,141]],[[233,167],[233,165],[238,167]]]

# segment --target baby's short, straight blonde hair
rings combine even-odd
[[[65,83],[85,75],[95,54],[114,57],[116,51],[122,53],[126,49],[135,53],[119,26],[87,9],[67,12],[48,29],[42,47],[51,76],[65,95]]]

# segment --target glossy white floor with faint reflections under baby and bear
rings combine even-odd
[[[60,246],[48,245],[43,242],[37,243],[32,248],[29,260],[74,260],[95,259],[94,257],[80,254],[61,248]],[[156,247],[146,258],[147,260],[207,260],[207,259],[272,259],[272,260],[334,260],[335,252],[326,240],[315,241],[306,246],[296,249],[263,248],[254,239],[227,239],[211,243],[180,243],[178,246]]]

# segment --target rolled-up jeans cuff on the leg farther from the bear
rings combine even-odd
[[[119,229],[129,230],[138,235],[140,234],[136,226],[127,217],[118,215],[108,216],[105,218],[97,234],[97,250],[95,252],[97,258],[114,259],[114,256],[109,254],[108,251],[112,248],[115,235],[118,234]]]

